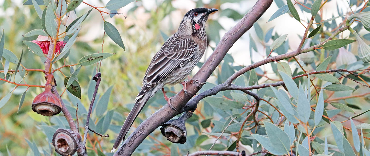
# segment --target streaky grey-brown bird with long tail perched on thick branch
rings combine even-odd
[[[206,50],[205,23],[209,14],[215,11],[218,9],[196,8],[188,11],[182,18],[177,32],[169,37],[154,55],[145,72],[143,86],[135,98],[135,105],[128,114],[111,152],[118,148],[141,109],[160,89],[167,104],[174,109],[170,102],[172,97],[166,96],[164,85],[182,84],[187,94],[187,81],[184,80]]]

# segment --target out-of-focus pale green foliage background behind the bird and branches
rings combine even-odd
[[[93,6],[104,6],[107,0],[85,0],[85,2],[92,4]],[[96,53],[96,52],[111,52],[115,53],[110,58],[102,61],[100,72],[102,73],[102,82],[98,90],[99,99],[96,99],[94,105],[94,111],[90,120],[90,128],[100,132],[102,134],[109,134],[110,138],[101,138],[94,133],[89,132],[87,149],[90,155],[111,155],[109,153],[112,143],[115,140],[117,133],[124,122],[125,116],[131,110],[134,102],[134,98],[141,88],[142,78],[145,74],[145,70],[151,61],[152,56],[159,50],[164,41],[177,30],[178,24],[181,21],[182,16],[190,9],[195,7],[207,7],[217,8],[218,12],[212,14],[208,20],[207,34],[209,39],[209,47],[206,50],[205,56],[199,62],[198,67],[192,72],[194,74],[197,69],[202,65],[202,62],[209,56],[219,42],[222,35],[229,30],[245,13],[253,6],[256,0],[138,0],[118,10],[118,13],[123,13],[127,18],[122,15],[115,15],[110,18],[109,15],[103,14],[105,20],[111,22],[118,31],[120,31],[122,40],[125,44],[126,51],[115,44],[107,35],[103,35],[103,20],[100,13],[97,10],[92,10],[91,14],[83,22],[79,37],[76,43],[71,48],[69,57],[66,59],[67,64],[75,64],[80,60],[81,57]],[[308,7],[313,1],[308,0],[306,3]],[[23,1],[20,0],[2,0],[0,1],[0,28],[5,31],[5,46],[4,48],[14,52],[18,57],[21,54],[21,48],[23,45],[22,41],[35,40],[37,37],[23,37],[28,31],[41,28],[40,19],[37,17],[37,13],[32,5],[22,5]],[[275,11],[283,7],[286,1],[276,0],[272,4],[270,9],[262,16],[262,18],[252,27],[248,33],[237,41],[233,48],[226,55],[224,61],[219,65],[208,83],[203,86],[201,91],[214,87],[217,84],[224,82],[230,75],[236,70],[241,69],[244,65],[248,65],[251,62],[259,61],[270,52],[269,45],[273,40],[280,37],[280,35],[288,34],[287,41],[272,53],[272,55],[284,54],[291,50],[295,50],[298,47],[299,41],[302,38],[302,33],[305,28],[292,18],[291,14],[283,14],[277,17],[275,20],[269,21],[270,17],[273,16]],[[363,1],[351,0],[350,5],[354,10],[359,8],[363,4]],[[41,6],[43,9],[44,6]],[[297,7],[298,8],[298,7]],[[309,10],[305,7],[299,6],[300,16],[309,18],[307,13]],[[77,8],[77,16],[81,16],[86,11],[90,10],[91,7],[81,4]],[[320,16],[317,16],[316,22],[319,23],[325,19],[345,15],[350,11],[350,8],[346,1],[343,0],[329,0],[326,6],[320,10]],[[366,10],[365,10],[366,11]],[[339,23],[345,17],[337,18],[333,21],[323,23],[325,29],[320,33],[327,37],[332,31],[336,30]],[[267,21],[269,21],[267,23]],[[304,21],[307,21],[306,19]],[[358,25],[359,34],[367,34],[367,31],[361,29],[361,23],[355,23]],[[356,30],[356,27],[354,28]],[[327,34],[326,34],[327,33]],[[341,38],[349,36],[349,32],[344,32]],[[370,35],[367,34],[363,38],[369,40]],[[103,44],[104,40],[104,44]],[[320,42],[320,36],[316,35],[312,43],[317,44]],[[102,45],[103,44],[103,45]],[[347,47],[351,50],[351,45]],[[352,50],[354,54],[356,50]],[[309,65],[305,65],[308,71],[314,71],[316,66],[328,56],[332,56],[330,65],[335,67],[335,61],[338,55],[338,50],[334,51],[316,51],[314,62]],[[30,51],[26,50],[23,56],[22,64],[27,68],[40,68],[43,69],[43,62],[38,57],[35,57]],[[358,60],[358,59],[357,59]],[[286,62],[289,63],[292,68],[293,76],[303,74],[303,71],[294,63],[294,60],[290,59]],[[4,60],[1,62],[4,64]],[[53,68],[58,68],[63,65],[63,61],[58,61],[53,65]],[[16,65],[11,64],[10,68],[14,68]],[[351,69],[361,69],[368,67],[369,64],[363,64],[360,60],[343,67]],[[0,66],[0,69],[3,67]],[[75,68],[75,67],[74,67]],[[339,68],[339,67],[337,67]],[[69,74],[70,69],[64,68],[64,73]],[[82,96],[81,99],[71,95],[68,91],[63,93],[63,100],[68,106],[70,113],[76,118],[75,110],[76,104],[78,104],[79,128],[82,134],[84,130],[84,123],[87,116],[88,104],[90,104],[95,82],[91,80],[92,76],[97,72],[96,65],[84,66],[81,68],[80,74],[78,74],[78,82],[81,85]],[[58,91],[62,93],[64,91],[63,75],[60,72],[55,72],[55,79],[57,81]],[[191,74],[191,75],[192,75]],[[190,75],[190,76],[191,76]],[[258,83],[269,83],[275,82],[280,79],[277,73],[277,63],[271,63],[256,68],[253,71],[247,72],[242,77],[236,79],[235,84],[248,86],[253,85],[255,82],[250,81],[250,78],[258,78]],[[67,75],[68,76],[68,75]],[[339,77],[340,75],[335,75]],[[366,81],[370,81],[369,78],[365,77]],[[296,83],[299,81],[307,81],[307,79],[298,78],[295,79]],[[318,84],[322,82],[316,80]],[[44,74],[40,72],[29,72],[26,77],[28,84],[43,85],[45,84]],[[343,82],[346,84],[346,82]],[[351,106],[354,112],[363,112],[369,109],[369,98],[364,98],[367,93],[370,92],[369,88],[358,86],[356,83],[348,82],[350,85],[356,88],[356,91],[343,91],[335,92],[330,97],[346,97],[350,95],[362,95],[357,98],[339,99],[340,102]],[[0,85],[0,97],[7,95],[14,85],[5,84]],[[33,112],[31,108],[32,100],[40,94],[43,89],[30,88],[27,91],[24,104],[18,112],[19,99],[21,94],[26,90],[27,87],[18,87],[11,96],[9,102],[0,109],[0,155],[58,155],[54,152],[53,146],[51,145],[51,136],[57,128],[68,128],[68,123],[62,114],[52,117],[44,117]],[[181,85],[175,85],[174,87],[166,87],[168,91],[167,95],[175,95],[177,91],[182,88]],[[360,88],[360,89],[359,89]],[[313,90],[312,90],[313,91]],[[233,94],[232,94],[233,93]],[[215,95],[219,98],[235,99],[235,93],[242,93],[238,91],[223,91]],[[275,96],[269,88],[259,89],[258,94],[260,96]],[[324,94],[324,99],[329,97],[330,93]],[[234,95],[234,96],[232,96]],[[247,101],[252,101],[251,97],[247,97]],[[244,109],[236,109],[220,107],[219,105],[212,105],[212,99],[203,100],[199,103],[198,109],[196,109],[192,118],[186,122],[186,128],[188,130],[188,141],[185,144],[172,144],[163,137],[159,131],[159,128],[155,130],[136,150],[134,155],[145,155],[145,156],[164,156],[164,155],[186,155],[187,151],[197,150],[208,150],[214,140],[217,138],[215,134],[218,134],[222,129],[231,121],[231,116],[238,114],[238,118],[227,129],[228,134],[233,134],[239,131],[240,123],[243,122],[243,118],[246,117],[247,113],[243,113]],[[143,111],[136,119],[136,122],[132,126],[135,128],[141,121],[146,119],[149,115],[154,113],[156,110],[166,104],[162,93],[158,94],[149,100]],[[248,105],[248,102],[244,103]],[[325,105],[327,106],[327,104]],[[335,109],[332,106],[327,106],[327,114],[330,118],[338,119],[343,121],[349,116],[353,116],[353,113],[341,112],[341,109]],[[238,107],[237,107],[238,108]],[[261,108],[263,111],[269,112],[268,114],[276,120],[279,114],[270,110],[267,103],[262,104]],[[229,110],[228,110],[229,109]],[[356,122],[366,122],[368,115],[363,115],[357,118]],[[350,123],[343,123],[348,126]],[[350,126],[348,126],[350,127]],[[132,128],[132,129],[133,129]],[[262,128],[264,129],[264,128]],[[317,132],[322,130],[320,136],[324,136],[325,133],[329,132],[330,129],[324,129],[324,126],[316,129]],[[366,132],[366,130],[364,130]],[[213,133],[213,134],[212,134]],[[329,132],[330,133],[330,132]],[[261,132],[260,134],[265,134]],[[316,135],[316,133],[314,133]],[[329,142],[333,141],[333,136],[329,139]],[[351,137],[351,136],[350,136]],[[349,137],[349,138],[350,138]],[[303,138],[302,138],[303,139]],[[26,140],[29,140],[28,142]],[[316,140],[322,143],[323,140]],[[366,141],[367,142],[367,141]],[[243,138],[241,139],[242,150],[247,150],[248,153],[253,150],[260,150],[256,146],[256,140],[252,139],[249,131],[243,132]],[[8,148],[8,149],[7,149]],[[36,148],[38,150],[36,150]],[[235,148],[235,138],[223,137],[213,147],[214,150],[233,150]],[[36,152],[37,151],[37,152]],[[40,153],[38,153],[40,152]],[[76,154],[75,154],[76,155]]]

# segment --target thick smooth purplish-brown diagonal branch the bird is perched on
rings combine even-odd
[[[225,57],[226,53],[239,38],[262,16],[263,13],[270,7],[273,0],[259,0],[252,9],[229,30],[221,39],[211,56],[203,64],[201,69],[189,81],[187,85],[188,91],[193,94],[186,95],[184,91],[178,92],[172,99],[171,104],[176,108],[173,110],[168,105],[163,106],[157,112],[153,113],[149,118],[142,122],[133,133],[124,141],[122,146],[114,153],[114,156],[129,156],[137,146],[156,128],[163,123],[169,121],[174,116],[182,112],[186,103],[199,91],[201,82],[205,82],[218,64]]]

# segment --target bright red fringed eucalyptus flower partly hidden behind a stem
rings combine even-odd
[[[48,36],[38,35],[37,39],[31,42],[36,43],[38,46],[40,46],[44,54],[47,55],[49,51],[50,41],[51,40]],[[65,43],[66,42],[64,41],[57,41],[57,44],[55,45],[54,54],[60,54],[60,50],[61,48],[64,47]]]

